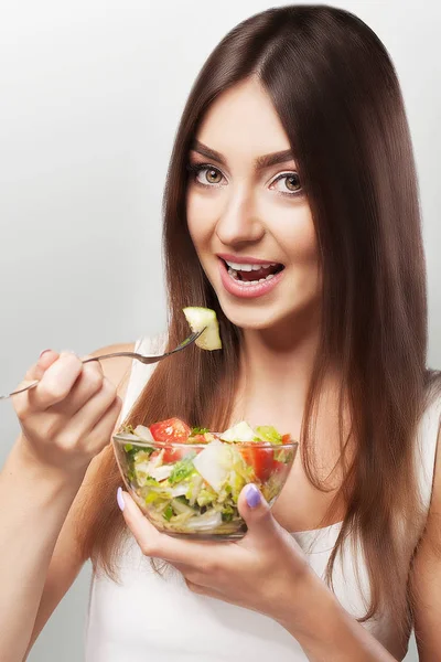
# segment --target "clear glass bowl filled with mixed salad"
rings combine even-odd
[[[150,522],[172,536],[237,540],[247,526],[237,509],[244,485],[255,483],[271,506],[288,478],[298,441],[209,444],[143,441],[114,435],[128,492]]]

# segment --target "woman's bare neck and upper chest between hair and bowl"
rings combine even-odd
[[[275,329],[244,330],[232,425],[244,419],[252,427],[273,425],[281,434],[289,433],[293,439],[302,439],[304,408],[320,348],[320,333],[316,320],[314,323],[311,320],[310,325],[293,322],[280,332]],[[313,445],[320,457],[322,480],[331,478],[338,481],[341,478],[340,469],[335,473],[341,456],[340,415],[343,415],[344,438],[351,429],[351,416],[345,398],[341,412],[340,397],[338,366],[326,366],[313,414]],[[330,487],[332,484],[329,483]]]

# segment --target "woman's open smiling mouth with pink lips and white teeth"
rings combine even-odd
[[[239,297],[260,297],[280,281],[284,265],[258,260],[239,263],[219,257],[220,278],[225,289]]]

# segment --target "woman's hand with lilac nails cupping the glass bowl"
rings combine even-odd
[[[238,508],[248,526],[237,542],[180,540],[160,533],[127,492],[123,516],[146,556],[163,558],[178,568],[193,592],[246,607],[284,621],[310,566],[294,538],[273,519],[255,485],[246,485]]]

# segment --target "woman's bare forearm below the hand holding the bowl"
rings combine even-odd
[[[312,570],[297,587],[295,601],[301,609],[287,607],[280,622],[311,662],[397,662]]]

